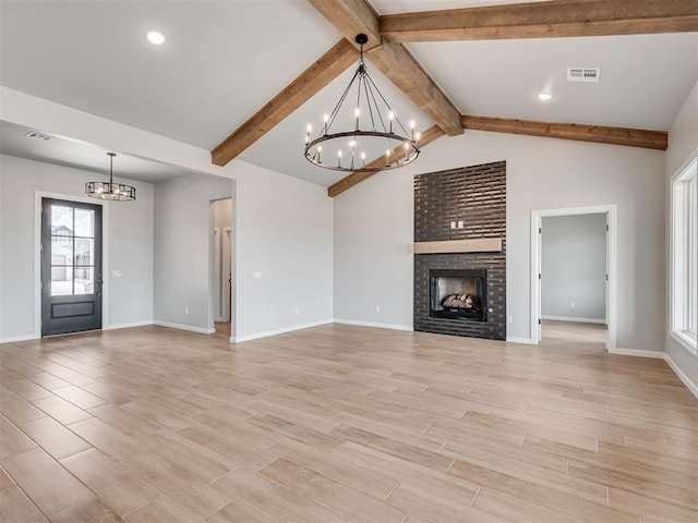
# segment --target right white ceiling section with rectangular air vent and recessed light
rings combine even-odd
[[[698,71],[697,33],[408,48],[464,114],[621,127],[669,130]],[[567,82],[579,66],[600,68],[600,82]],[[541,92],[553,98],[540,101]]]

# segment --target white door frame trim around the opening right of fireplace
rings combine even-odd
[[[573,216],[573,215],[606,215],[606,350],[609,352],[616,348],[617,335],[617,257],[618,257],[618,231],[617,214],[615,204],[594,205],[589,207],[569,207],[564,209],[543,209],[531,211],[531,341],[541,342],[541,234],[540,228],[542,219],[550,216]]]

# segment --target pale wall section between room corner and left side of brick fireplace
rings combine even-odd
[[[406,169],[376,174],[334,198],[338,321],[412,326],[413,188]]]

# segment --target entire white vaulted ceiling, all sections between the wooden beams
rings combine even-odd
[[[498,3],[517,2],[372,1],[381,14]],[[205,149],[340,38],[305,0],[0,0],[0,19],[3,86]],[[152,27],[167,35],[161,48],[143,38]],[[408,48],[468,114],[667,130],[698,77],[697,33],[421,42]],[[567,66],[600,66],[601,82],[569,84]],[[369,71],[399,114],[414,118],[420,129],[431,124],[370,62]],[[322,185],[338,180],[337,173],[308,163],[302,146],[306,124],[318,124],[334,107],[349,74],[241,159]],[[535,98],[544,89],[553,94],[545,104]],[[20,147],[17,141],[4,139],[9,131],[2,129],[0,151],[51,161],[46,151],[39,157],[27,144],[20,141]],[[55,153],[57,162],[79,157],[71,144],[53,144],[64,146]]]

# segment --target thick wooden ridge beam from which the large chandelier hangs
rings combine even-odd
[[[308,0],[350,41],[359,33],[381,38],[378,16],[365,0]],[[370,13],[373,13],[371,16]],[[362,24],[363,27],[362,27]],[[370,40],[371,41],[371,40]],[[366,50],[364,48],[364,50]],[[366,58],[446,134],[462,134],[460,111],[399,44],[366,50]]]

